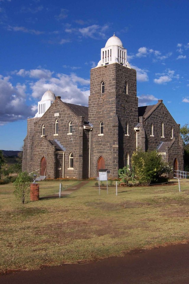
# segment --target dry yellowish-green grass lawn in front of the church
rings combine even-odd
[[[13,185],[0,185],[0,271],[37,269],[121,256],[137,248],[187,242],[189,181],[176,185],[115,187],[95,181],[63,198],[22,205]],[[58,193],[60,182],[39,182],[40,197]],[[79,181],[62,182],[73,186]]]

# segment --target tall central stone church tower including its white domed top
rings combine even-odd
[[[138,99],[136,70],[127,62],[127,50],[115,34],[101,49],[101,59],[91,70],[89,96],[91,176],[99,169],[118,176],[118,168],[130,165],[136,150]]]

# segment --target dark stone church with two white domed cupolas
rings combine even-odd
[[[91,69],[89,107],[61,101],[48,90],[27,121],[22,170],[48,178],[97,177],[131,164],[133,151],[157,149],[175,170],[183,170],[183,141],[162,100],[138,107],[136,70],[113,35]]]

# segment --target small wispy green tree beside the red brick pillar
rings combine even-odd
[[[13,183],[14,195],[22,200],[24,204],[25,197],[30,193],[31,177],[27,172],[20,172]]]

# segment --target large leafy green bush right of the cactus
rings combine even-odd
[[[172,171],[157,151],[135,151],[131,161],[135,175],[142,184],[158,183],[164,174]]]

